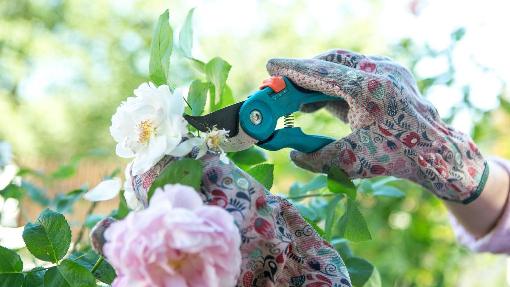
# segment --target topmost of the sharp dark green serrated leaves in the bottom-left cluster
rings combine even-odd
[[[25,225],[23,240],[35,257],[56,263],[69,249],[71,229],[62,213],[46,208],[34,224]]]

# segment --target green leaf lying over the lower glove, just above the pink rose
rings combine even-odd
[[[202,163],[196,159],[186,158],[170,164],[155,180],[149,189],[148,201],[154,195],[156,188],[166,184],[180,183],[200,190],[202,181]]]

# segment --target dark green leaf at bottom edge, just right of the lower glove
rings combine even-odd
[[[344,260],[351,283],[356,287],[380,287],[381,278],[377,268],[369,261],[360,257],[350,257]]]

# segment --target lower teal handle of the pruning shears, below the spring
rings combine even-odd
[[[275,130],[273,135],[265,141],[260,141],[257,146],[268,151],[279,151],[291,148],[302,153],[315,152],[329,143],[335,141],[332,137],[305,134],[301,128],[283,128]]]

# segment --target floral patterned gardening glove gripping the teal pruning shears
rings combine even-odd
[[[409,69],[394,60],[331,50],[313,59],[270,59],[267,69],[344,100],[301,108],[325,106],[352,130],[316,152],[292,151],[301,168],[326,173],[337,166],[351,179],[405,178],[464,204],[483,190],[489,167],[473,140],[442,121]]]

